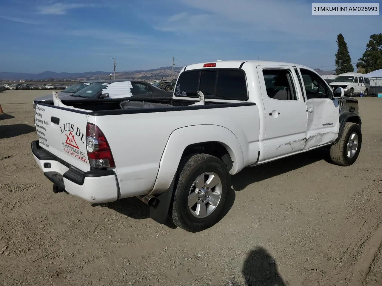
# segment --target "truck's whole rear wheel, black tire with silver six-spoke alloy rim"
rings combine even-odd
[[[212,227],[222,214],[230,187],[227,166],[217,157],[196,154],[180,170],[170,215],[189,232]]]

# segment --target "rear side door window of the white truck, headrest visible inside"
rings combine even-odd
[[[289,70],[264,69],[263,76],[267,95],[276,100],[297,100],[293,77]]]

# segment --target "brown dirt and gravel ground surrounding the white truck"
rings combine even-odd
[[[1,285],[382,285],[382,99],[359,98],[354,165],[319,149],[244,169],[227,215],[187,233],[136,198],[53,194],[30,149],[47,93],[0,93]]]

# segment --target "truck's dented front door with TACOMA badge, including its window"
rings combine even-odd
[[[296,66],[303,79],[303,92],[308,108],[308,126],[304,150],[332,142],[340,128],[340,109],[337,99],[332,99],[332,88],[319,74]]]

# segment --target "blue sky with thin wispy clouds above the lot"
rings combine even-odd
[[[355,63],[381,31],[381,16],[312,16],[306,0],[1,0],[0,71],[111,71],[114,56],[117,71],[173,56],[178,66],[259,57],[334,70],[338,33]]]

